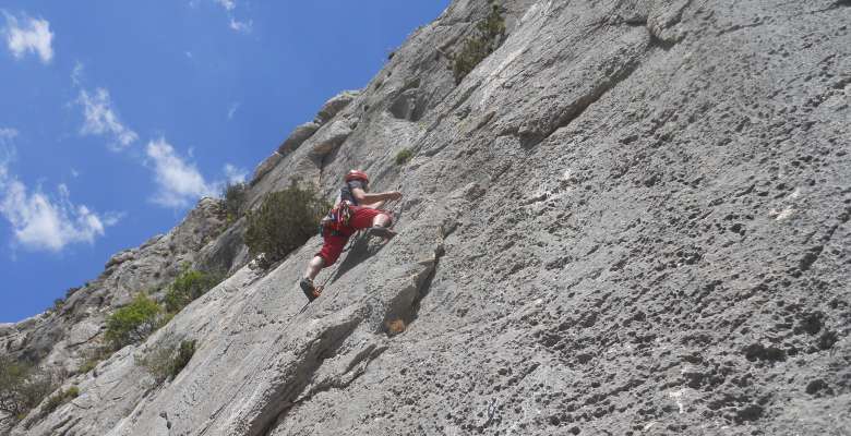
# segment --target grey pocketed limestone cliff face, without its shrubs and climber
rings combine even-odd
[[[851,433],[851,3],[498,4],[506,39],[459,85],[445,56],[486,1],[417,29],[252,180],[255,206],[362,168],[405,194],[395,239],[356,239],[303,312],[319,237],[265,271],[244,220],[181,242],[232,275],[9,433]],[[124,267],[157,241],[110,262],[105,301],[161,282]],[[56,335],[100,335],[76,323]],[[156,385],[139,359],[181,339],[194,356]]]

